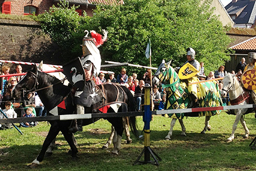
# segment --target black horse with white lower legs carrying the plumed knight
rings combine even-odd
[[[130,90],[126,87],[121,87],[114,84],[99,85],[99,89],[104,91],[105,98],[108,104],[115,104],[116,102],[122,102],[118,111],[136,111],[136,102],[134,101],[133,95]],[[47,109],[48,115],[51,115],[51,111],[59,104],[65,102],[65,107],[57,107],[55,111],[59,115],[61,114],[73,114],[75,112],[75,105],[72,101],[72,87],[62,84],[62,82],[54,76],[48,75],[44,72],[39,72],[37,67],[34,65],[33,69],[30,70],[24,78],[19,81],[13,90],[13,97],[19,98],[22,93],[38,92],[38,95]],[[97,104],[100,106],[103,104]],[[85,108],[85,113],[92,113],[93,106]],[[113,108],[109,108],[108,112],[114,112]],[[83,125],[89,125],[96,122],[98,119],[84,119]],[[120,143],[123,133],[123,121],[122,117],[108,117],[107,120],[114,126],[116,136],[114,137],[113,153],[118,154],[120,150]],[[71,125],[71,120],[53,120],[51,123],[50,131],[45,138],[41,152],[38,157],[33,161],[32,167],[37,166],[44,159],[45,152],[51,141],[59,134],[59,131],[65,137],[71,148],[71,156],[77,157],[77,148],[74,145],[72,133],[68,131],[68,127]],[[138,135],[136,128],[136,117],[130,117],[130,127],[134,135]]]

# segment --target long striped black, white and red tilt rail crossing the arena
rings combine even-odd
[[[202,107],[202,108],[186,108],[175,110],[157,110],[152,111],[152,114],[171,114],[171,113],[191,113],[199,111],[213,111],[213,110],[231,110],[241,108],[255,108],[256,104],[249,105],[229,105],[224,107]],[[19,123],[32,121],[48,121],[48,120],[72,120],[72,119],[91,119],[99,117],[124,117],[124,116],[143,116],[143,111],[137,112],[121,112],[121,113],[87,113],[87,114],[65,114],[59,116],[45,116],[45,117],[18,117],[14,119],[0,119],[0,123]]]

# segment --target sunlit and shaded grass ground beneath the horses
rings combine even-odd
[[[59,134],[53,155],[45,158],[34,170],[256,170],[256,151],[249,147],[256,135],[254,114],[245,117],[250,137],[243,139],[245,131],[239,123],[235,140],[226,143],[234,120],[235,116],[222,112],[211,118],[212,130],[200,134],[205,117],[188,117],[184,119],[187,136],[180,136],[180,125],[176,122],[172,140],[166,141],[164,138],[171,119],[154,116],[151,122],[151,149],[162,158],[160,166],[133,166],[144,148],[143,140],[136,140],[132,135],[133,143],[126,145],[123,135],[119,155],[111,154],[113,145],[108,151],[101,149],[107,142],[111,126],[102,119],[84,126],[84,132],[75,135],[79,144],[78,160],[73,160],[67,154],[69,146],[63,135]],[[137,117],[137,123],[142,130],[142,117]],[[20,135],[16,129],[0,131],[0,170],[28,170],[26,165],[39,154],[49,128],[47,122],[40,122],[34,128],[20,128],[24,135]]]

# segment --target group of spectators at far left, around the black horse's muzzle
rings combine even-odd
[[[15,72],[13,73],[23,73],[22,66],[18,64],[15,67]],[[21,81],[24,75],[8,76],[10,75],[10,67],[7,65],[2,66],[1,75],[5,75],[0,78],[0,107],[2,112],[0,113],[0,119],[16,118],[16,117],[36,117],[36,116],[46,116],[47,111],[44,108],[37,93],[28,93],[27,96],[21,99],[14,99],[11,96],[11,91]],[[37,112],[38,111],[38,114]],[[31,123],[20,123],[20,126],[30,127],[36,126],[38,122]],[[0,129],[12,128],[10,124],[0,124]]]

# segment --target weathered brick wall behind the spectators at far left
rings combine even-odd
[[[36,22],[0,19],[0,59],[62,64],[61,51]],[[13,64],[8,64],[14,69]],[[24,70],[28,66],[23,66]]]

